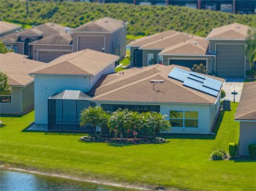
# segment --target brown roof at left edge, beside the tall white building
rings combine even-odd
[[[7,74],[11,86],[25,86],[34,81],[28,73],[45,65],[43,62],[29,60],[22,56],[24,55],[15,53],[0,54],[0,69]]]

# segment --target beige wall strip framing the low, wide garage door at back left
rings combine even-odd
[[[38,60],[39,51],[67,51],[72,52],[72,46],[56,46],[56,45],[32,45],[33,47],[33,60]]]

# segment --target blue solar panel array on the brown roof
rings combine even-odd
[[[222,86],[222,81],[176,67],[169,73],[168,76],[170,78],[182,81],[184,86],[199,90],[215,97],[218,96]]]

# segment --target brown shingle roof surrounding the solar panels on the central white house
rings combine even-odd
[[[166,66],[159,64],[142,69],[127,69],[102,76],[92,90],[86,94],[92,96],[93,101],[215,103],[216,97],[183,86],[182,82],[169,78],[168,74],[174,67],[189,70],[189,68],[177,65]],[[224,81],[216,77],[211,78]],[[156,84],[155,89],[153,89],[151,80],[164,80],[164,84]]]

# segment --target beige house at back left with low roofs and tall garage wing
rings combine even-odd
[[[112,18],[102,18],[75,29],[45,23],[4,36],[0,40],[6,47],[14,49],[15,53],[47,63],[86,48],[124,57],[126,26],[127,22]]]

